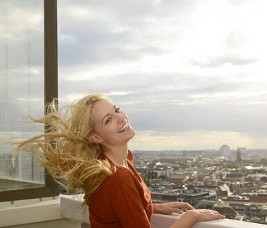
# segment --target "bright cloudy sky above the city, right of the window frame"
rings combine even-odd
[[[130,149],[267,148],[265,0],[58,0],[60,99],[102,92]]]

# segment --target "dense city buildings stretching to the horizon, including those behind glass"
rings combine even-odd
[[[188,202],[226,218],[267,224],[267,149],[133,151],[153,202]],[[0,153],[0,190],[44,184],[44,168],[19,153]],[[65,193],[60,188],[60,193]],[[87,225],[83,224],[83,227]]]

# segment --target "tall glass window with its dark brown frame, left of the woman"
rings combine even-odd
[[[0,140],[23,140],[36,130],[27,121],[44,115],[58,97],[56,1],[0,1]],[[0,201],[48,197],[57,184],[28,152],[12,165],[10,145],[0,147]]]

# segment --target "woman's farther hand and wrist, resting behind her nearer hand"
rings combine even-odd
[[[185,202],[170,202],[165,204],[153,204],[153,213],[183,213],[183,211],[193,210],[193,206]],[[182,211],[183,210],[183,211]]]

